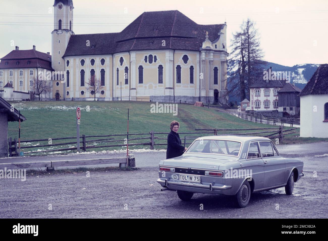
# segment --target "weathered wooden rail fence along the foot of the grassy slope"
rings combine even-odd
[[[288,134],[293,134],[294,132],[290,132],[292,130],[295,130],[297,128],[292,128],[289,130],[283,130],[283,126],[279,127],[273,127],[273,128],[253,128],[253,129],[195,129],[195,132],[179,132],[180,135],[184,136],[190,136],[190,134],[197,134],[197,136],[205,136],[207,135],[260,135],[263,136],[264,133],[268,134],[264,137],[268,137],[270,139],[279,138],[279,142],[281,143],[283,141],[283,137]],[[257,132],[247,132],[252,130],[259,130]],[[240,133],[240,131],[244,131]],[[228,132],[228,133],[227,133]],[[230,133],[229,133],[230,132]],[[237,133],[233,133],[237,132]],[[80,136],[80,150],[87,151],[87,149],[92,148],[107,148],[107,147],[126,147],[127,144],[129,144],[129,147],[132,146],[150,146],[150,149],[153,150],[154,146],[161,146],[161,145],[167,145],[167,132],[154,132],[153,130],[149,133],[136,133],[132,134],[116,134],[116,135],[97,135],[97,136]],[[156,135],[156,136],[155,136]],[[138,137],[141,136],[141,137]],[[143,137],[146,136],[146,137]],[[195,136],[195,135],[194,135]],[[115,137],[117,139],[115,139]],[[126,137],[126,138],[124,138]],[[132,139],[130,139],[132,137]],[[100,138],[100,139],[94,139],[94,138]],[[59,143],[52,143],[52,141],[57,140],[71,140],[76,139],[76,137],[66,137],[66,138],[53,138],[51,139],[33,139],[33,140],[21,140],[21,147],[20,149],[24,150],[24,154],[31,155],[31,154],[38,154],[38,153],[47,153],[47,152],[61,152],[61,151],[73,151],[77,150],[77,143],[76,141],[69,141],[69,142],[59,142]],[[183,140],[182,144],[184,144],[184,137],[181,138]],[[147,141],[144,141],[147,140]],[[132,143],[130,141],[133,141]],[[138,141],[142,141],[139,143]],[[34,145],[28,145],[30,143],[36,143]],[[41,143],[40,143],[41,142]],[[42,142],[48,142],[42,143]],[[113,144],[111,144],[113,143]],[[9,156],[20,156],[19,152],[20,149],[17,144],[17,139],[8,139],[9,144]],[[100,144],[100,145],[98,145]],[[190,144],[190,143],[186,143]],[[73,145],[73,146],[72,146]],[[51,148],[51,147],[57,147],[61,146],[64,148],[58,148],[58,149],[48,149],[48,150],[36,150],[36,151],[28,151],[29,149],[33,148]]]

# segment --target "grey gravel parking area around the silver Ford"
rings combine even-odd
[[[284,188],[253,194],[243,209],[235,208],[230,196],[195,194],[190,202],[183,202],[176,192],[161,192],[156,180],[158,161],[165,158],[165,152],[145,152],[135,153],[140,169],[133,171],[98,171],[89,167],[90,177],[85,171],[56,171],[28,173],[26,181],[0,179],[0,216],[327,218],[328,143],[278,145],[277,148],[282,156],[302,159],[305,176],[295,184],[293,195],[285,195]],[[49,210],[50,204],[52,210]],[[200,210],[201,204],[203,210]]]

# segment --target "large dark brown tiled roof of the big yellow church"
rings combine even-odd
[[[144,12],[119,33],[72,35],[65,56],[112,54],[129,50],[199,51],[208,31],[216,40],[225,24],[199,25],[178,10]],[[90,46],[86,46],[90,40]],[[165,40],[165,46],[162,41]]]

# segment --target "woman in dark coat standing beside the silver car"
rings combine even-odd
[[[171,122],[171,132],[167,135],[166,159],[179,157],[183,154],[185,150],[187,150],[186,147],[181,145],[181,140],[179,134],[177,133],[179,130],[179,126],[179,122]]]

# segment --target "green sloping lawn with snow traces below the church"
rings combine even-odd
[[[274,126],[267,124],[254,123],[250,121],[241,120],[233,115],[220,113],[215,109],[208,109],[206,107],[195,107],[193,105],[178,104],[177,115],[172,113],[151,113],[152,102],[128,102],[128,101],[66,101],[66,102],[11,102],[11,104],[21,114],[25,116],[26,121],[21,123],[21,140],[31,139],[53,139],[63,137],[76,137],[76,107],[81,108],[81,124],[80,136],[83,134],[90,135],[111,135],[111,134],[125,134],[127,132],[127,114],[128,108],[130,110],[129,118],[129,134],[133,133],[149,133],[151,130],[155,132],[170,132],[170,123],[173,120],[180,122],[179,132],[195,131],[195,128],[216,128],[216,129],[243,129],[243,128],[272,128]],[[86,111],[86,107],[90,106],[90,111]],[[286,127],[290,129],[290,127]],[[242,131],[242,132],[257,132]],[[304,143],[320,140],[320,138],[299,138],[299,128],[296,133],[288,135],[283,143]],[[226,133],[240,133],[240,131],[225,131],[218,132],[218,135]],[[270,134],[270,133],[269,133]],[[196,135],[197,134],[186,134]],[[207,135],[207,134],[203,134]],[[259,136],[268,135],[258,134]],[[155,135],[158,138],[167,138],[167,135]],[[180,134],[181,140],[185,134]],[[9,122],[8,137],[18,138],[18,122]],[[150,137],[147,136],[129,136],[129,139],[135,137]],[[125,137],[117,137],[115,139],[124,139]],[[87,138],[87,140],[100,138]],[[103,138],[102,138],[103,139]],[[73,142],[71,140],[53,140],[52,144]],[[143,143],[149,142],[150,139],[132,140],[129,143]],[[39,142],[39,145],[48,144],[48,141]],[[122,142],[110,143],[87,143],[87,145],[113,145]],[[166,143],[166,140],[155,140],[155,143]],[[36,142],[28,143],[27,145],[36,145]],[[24,146],[24,145],[22,145]],[[69,145],[74,146],[74,144]],[[67,146],[66,146],[67,147]],[[150,146],[129,146],[131,149],[145,148]],[[46,148],[46,147],[43,147]],[[47,147],[51,149],[60,149],[62,146]],[[36,151],[42,148],[29,148],[23,151]],[[124,147],[106,147],[87,149],[87,151],[101,151],[124,149]],[[155,146],[155,149],[166,149],[166,145]],[[70,151],[72,153],[72,151]],[[48,153],[49,154],[49,153]]]

